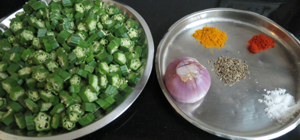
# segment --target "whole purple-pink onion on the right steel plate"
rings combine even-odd
[[[193,103],[205,96],[210,87],[208,70],[192,57],[179,57],[168,64],[164,82],[171,96],[186,103]]]

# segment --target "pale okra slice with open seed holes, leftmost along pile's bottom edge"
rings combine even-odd
[[[33,118],[36,131],[43,131],[51,129],[51,116],[45,112],[38,112],[38,114]]]

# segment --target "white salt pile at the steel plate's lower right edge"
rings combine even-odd
[[[265,115],[276,119],[279,124],[287,122],[300,110],[300,100],[295,103],[294,97],[285,93],[285,89],[278,88],[271,91],[264,89],[264,91],[266,91],[266,94],[262,94],[264,99],[258,99],[258,102],[265,104]]]

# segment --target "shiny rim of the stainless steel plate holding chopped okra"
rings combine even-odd
[[[46,3],[49,3],[50,0],[42,0],[45,1]],[[83,136],[85,134],[91,133],[103,126],[105,126],[106,124],[108,124],[109,122],[111,122],[112,120],[114,120],[116,117],[118,117],[119,115],[121,115],[132,103],[133,101],[138,97],[138,95],[140,94],[140,92],[142,91],[142,89],[144,88],[150,73],[151,73],[151,69],[152,69],[152,64],[153,64],[153,55],[154,55],[154,44],[153,44],[153,39],[152,39],[152,35],[150,32],[150,29],[147,25],[147,23],[145,22],[145,20],[140,16],[140,14],[138,14],[134,9],[132,9],[131,7],[129,7],[126,4],[120,3],[120,2],[115,2],[112,0],[102,0],[103,2],[105,2],[105,4],[108,5],[116,5],[119,6],[123,12],[125,14],[127,14],[129,17],[135,19],[135,21],[140,23],[140,27],[144,30],[145,35],[146,35],[146,41],[145,43],[147,43],[147,47],[148,47],[148,54],[147,54],[147,61],[145,64],[145,69],[144,72],[138,82],[138,84],[134,87],[133,91],[120,103],[117,104],[117,106],[108,114],[106,115],[102,115],[99,111],[95,112],[95,116],[96,116],[96,121],[94,121],[93,123],[86,125],[82,128],[73,130],[73,131],[66,131],[66,130],[62,130],[58,131],[58,132],[29,132],[30,135],[27,135],[27,130],[26,129],[10,129],[8,127],[5,127],[4,129],[0,130],[0,139],[28,139],[28,140],[32,140],[32,139],[74,139],[80,136]],[[18,11],[22,11],[23,9],[19,9]],[[9,27],[9,23],[11,18],[15,17],[15,13],[12,13],[10,15],[8,15],[7,17],[1,18],[0,19],[0,29],[1,30],[5,30]],[[34,135],[34,136],[32,136]],[[36,136],[39,135],[39,136]]]

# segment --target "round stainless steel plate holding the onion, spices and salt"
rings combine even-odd
[[[226,32],[228,39],[223,48],[206,49],[191,36],[204,25]],[[259,33],[272,37],[276,46],[255,54],[248,52],[246,41]],[[243,10],[212,8],[186,15],[169,28],[156,51],[156,74],[167,100],[195,126],[230,139],[271,139],[296,127],[300,122],[299,112],[280,125],[265,116],[265,106],[257,99],[263,98],[263,89],[278,87],[286,89],[295,100],[300,99],[299,48],[300,43],[292,34],[264,16]],[[250,75],[233,86],[222,86],[224,82],[210,71],[213,63],[206,62],[220,55],[246,60]],[[179,56],[194,57],[210,71],[211,86],[198,102],[178,102],[165,88],[166,66]]]

